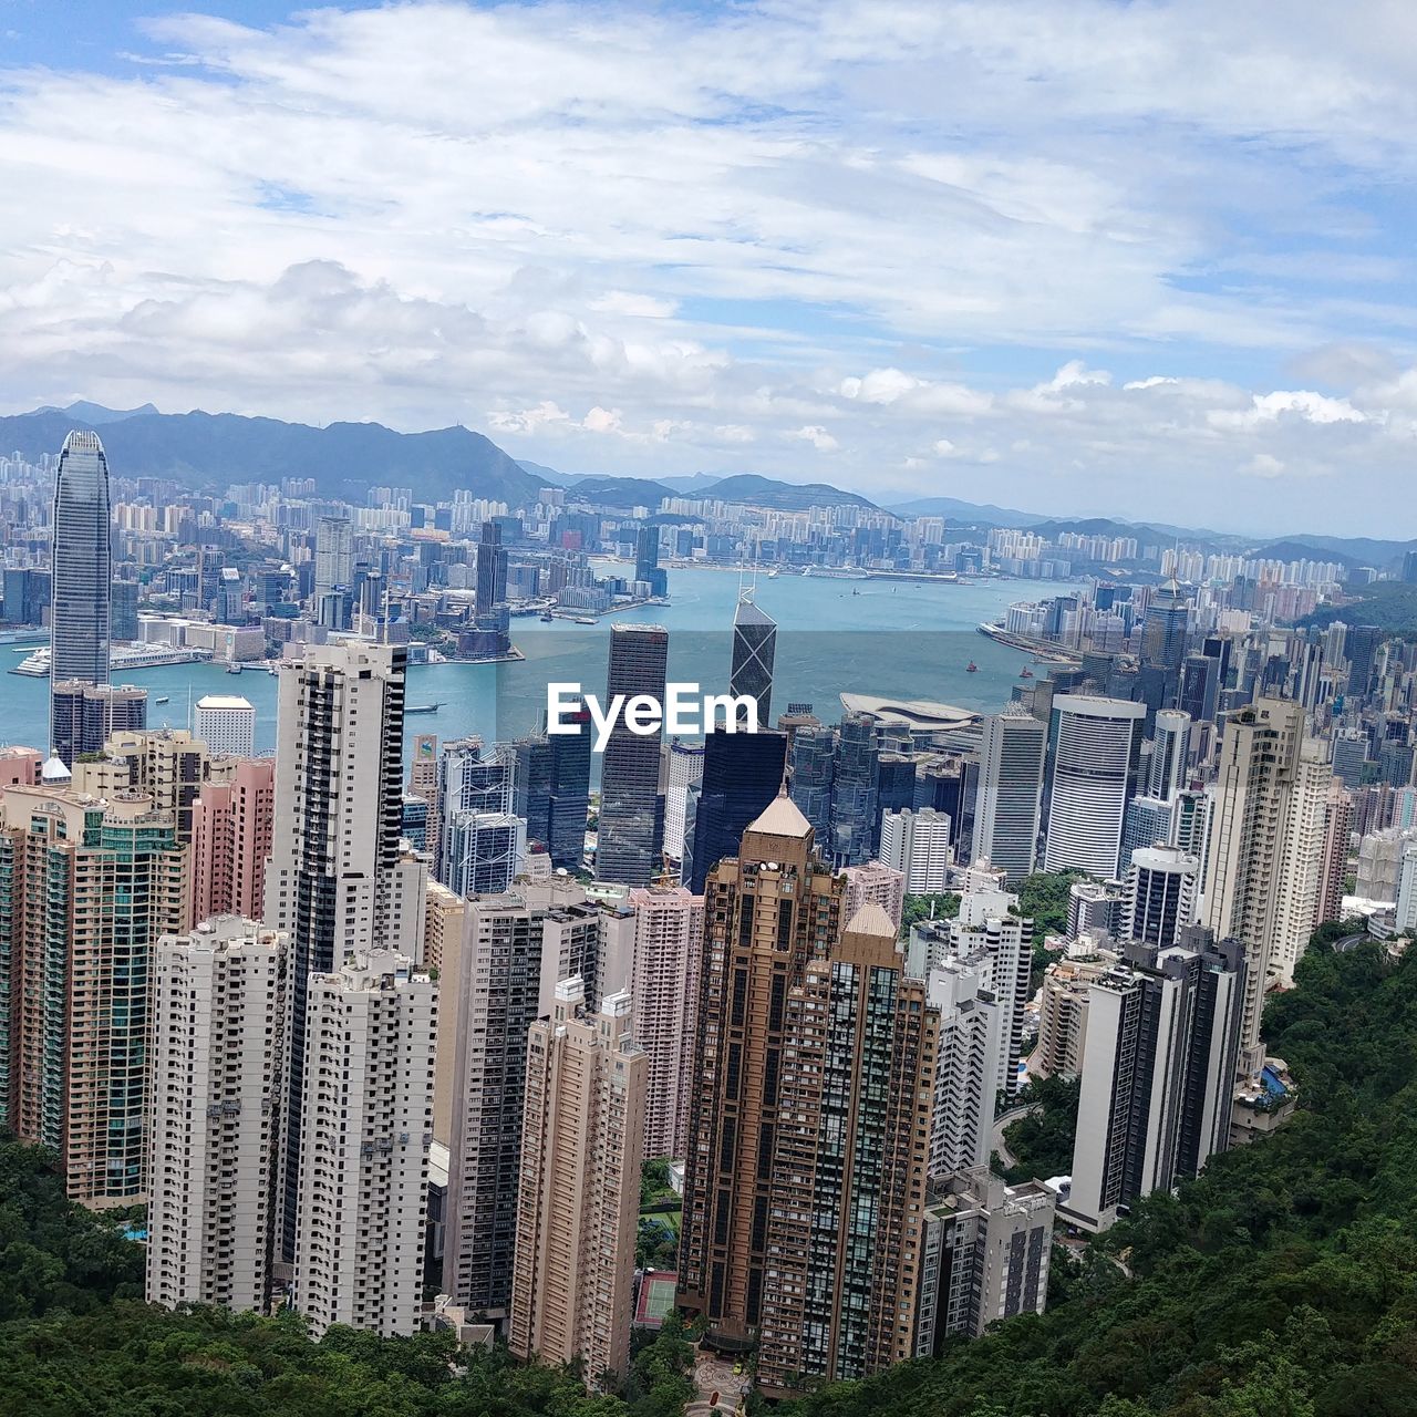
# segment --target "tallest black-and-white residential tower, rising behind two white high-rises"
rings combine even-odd
[[[281,667],[275,830],[264,921],[290,937],[283,1254],[295,1246],[306,981],[374,948],[412,956],[421,881],[400,860],[404,672],[395,645],[312,645]]]

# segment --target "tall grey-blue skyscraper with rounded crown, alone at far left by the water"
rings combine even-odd
[[[51,684],[108,683],[112,581],[108,459],[98,434],[75,431],[54,479]]]

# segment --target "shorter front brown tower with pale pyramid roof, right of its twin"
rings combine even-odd
[[[914,1353],[937,1029],[879,905],[863,905],[788,982],[778,1125],[767,1138],[757,1372],[769,1394],[864,1377]],[[744,1093],[755,1087],[747,1073]]]

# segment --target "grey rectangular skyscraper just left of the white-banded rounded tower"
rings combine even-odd
[[[969,859],[1000,867],[1009,884],[1033,870],[1046,741],[1046,726],[1022,706],[983,721]]]

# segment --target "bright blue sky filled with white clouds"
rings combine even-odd
[[[1414,167],[1407,0],[0,0],[0,411],[1414,537]]]

